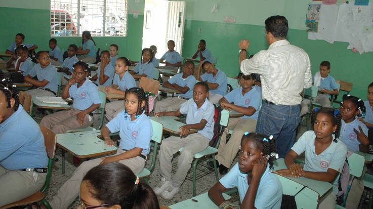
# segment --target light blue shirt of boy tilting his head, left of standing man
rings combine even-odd
[[[219,100],[227,94],[228,85],[227,75],[219,68],[216,69],[218,73],[215,76],[213,76],[213,73],[203,73],[203,75],[201,75],[203,81],[219,84],[217,89],[210,90],[209,100],[213,104],[218,103]]]

